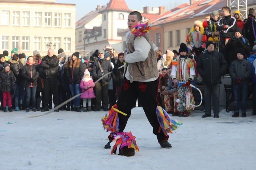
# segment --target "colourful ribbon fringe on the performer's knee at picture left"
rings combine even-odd
[[[118,112],[127,116],[127,114],[119,111],[117,109],[117,105],[115,104],[112,106],[111,110],[109,111],[109,115],[105,114],[103,118],[101,118],[102,125],[104,130],[107,132],[111,132],[111,134],[117,134],[118,133],[118,126],[119,126],[119,118],[118,118]]]

